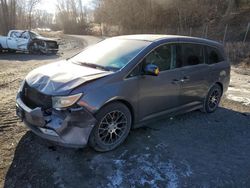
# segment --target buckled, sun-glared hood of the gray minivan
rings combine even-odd
[[[31,71],[25,80],[39,92],[55,96],[68,95],[77,86],[109,74],[112,72],[59,61]]]

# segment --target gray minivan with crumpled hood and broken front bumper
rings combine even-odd
[[[97,151],[119,146],[153,118],[214,112],[230,65],[220,43],[191,37],[131,35],[31,71],[17,94],[17,115],[37,135]]]

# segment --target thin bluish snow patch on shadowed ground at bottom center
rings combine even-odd
[[[162,145],[161,145],[162,147]],[[157,147],[161,149],[161,147]],[[124,157],[127,152],[120,156]],[[127,155],[126,155],[127,156]],[[135,168],[134,164],[137,164]],[[166,185],[169,188],[179,186],[181,177],[192,175],[191,167],[186,161],[186,168],[179,170],[172,160],[162,160],[161,154],[138,154],[127,156],[125,159],[114,159],[107,156],[96,156],[91,160],[91,169],[99,173],[99,169],[107,169],[107,187],[159,187]]]

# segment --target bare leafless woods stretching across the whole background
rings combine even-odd
[[[0,0],[0,34],[10,29],[50,28],[66,34],[115,36],[179,34],[225,44],[232,62],[250,64],[250,0]]]

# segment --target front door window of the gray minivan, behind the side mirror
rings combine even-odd
[[[163,45],[153,50],[143,60],[144,66],[147,64],[157,65],[160,71],[169,70],[172,62],[172,47],[171,45]]]

